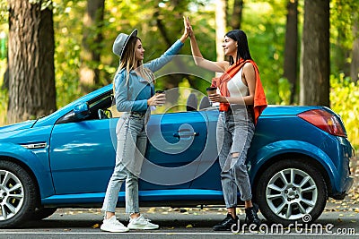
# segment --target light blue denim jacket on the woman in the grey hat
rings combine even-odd
[[[160,70],[162,66],[168,64],[172,55],[176,55],[184,44],[177,40],[163,55],[146,64],[144,67],[153,73]],[[137,75],[134,70],[129,72],[127,81],[126,69],[121,69],[115,76],[115,98],[116,107],[119,112],[146,112],[147,99],[154,94],[153,82],[145,81]]]

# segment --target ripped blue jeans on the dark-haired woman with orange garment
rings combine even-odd
[[[217,146],[222,170],[223,197],[227,209],[237,206],[237,188],[242,201],[250,201],[252,198],[246,160],[253,134],[252,115],[246,107],[220,113],[217,123]],[[233,157],[233,153],[239,153],[239,157]]]

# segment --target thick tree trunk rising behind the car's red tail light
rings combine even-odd
[[[305,0],[301,105],[329,106],[329,0]]]

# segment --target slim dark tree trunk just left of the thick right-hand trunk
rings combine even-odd
[[[293,104],[297,89],[298,0],[288,1],[285,28],[285,65],[283,76],[291,84],[290,104]]]

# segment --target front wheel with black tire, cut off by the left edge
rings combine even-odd
[[[31,218],[38,201],[38,191],[22,166],[0,160],[0,228],[22,226]],[[11,193],[9,193],[11,192]]]

